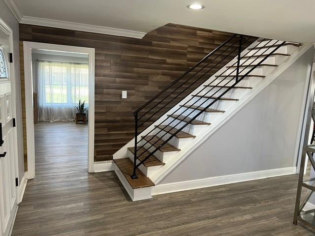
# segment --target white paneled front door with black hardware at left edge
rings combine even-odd
[[[13,130],[13,104],[10,78],[10,37],[0,29],[0,236],[9,234],[17,207],[16,137]],[[2,133],[2,137],[1,137]]]

